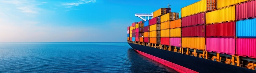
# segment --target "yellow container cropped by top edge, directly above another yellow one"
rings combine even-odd
[[[221,9],[227,6],[235,5],[241,2],[246,2],[249,0],[217,0],[217,8]]]

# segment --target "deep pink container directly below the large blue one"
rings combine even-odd
[[[243,57],[256,58],[256,38],[237,38],[236,54]]]

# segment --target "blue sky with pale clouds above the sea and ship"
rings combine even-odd
[[[0,0],[0,42],[126,42],[134,13],[199,0]]]

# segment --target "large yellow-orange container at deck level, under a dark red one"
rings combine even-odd
[[[182,37],[182,47],[205,50],[204,37]]]

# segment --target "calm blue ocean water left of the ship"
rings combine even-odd
[[[0,43],[4,73],[178,73],[128,43]]]

